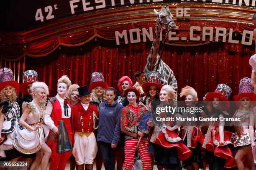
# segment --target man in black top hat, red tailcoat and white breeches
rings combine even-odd
[[[74,122],[74,148],[76,170],[92,170],[97,154],[95,129],[98,124],[98,107],[90,103],[91,92],[87,85],[77,88],[81,102],[72,107]]]

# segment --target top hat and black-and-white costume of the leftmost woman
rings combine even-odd
[[[19,83],[13,80],[13,72],[9,68],[0,69],[0,90],[5,86],[13,86],[18,94]],[[22,130],[23,127],[19,125],[20,121],[20,107],[17,101],[11,101],[7,98],[6,101],[0,103],[3,105],[2,113],[4,114],[3,128],[1,132],[3,142],[0,143],[0,157],[12,160],[18,158],[20,153],[13,146],[13,139],[15,138],[15,130]],[[0,113],[0,114],[2,114]]]

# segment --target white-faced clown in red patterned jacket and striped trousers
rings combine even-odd
[[[143,170],[151,170],[151,156],[148,153],[148,140],[146,135],[137,130],[138,117],[146,110],[145,106],[136,103],[140,93],[135,87],[129,87],[125,90],[125,97],[129,104],[121,111],[120,129],[125,133],[125,161],[123,164],[124,170],[131,170],[134,164],[134,154],[138,145],[138,152],[141,155]],[[141,141],[139,142],[139,138]]]

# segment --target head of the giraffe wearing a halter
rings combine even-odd
[[[173,16],[170,13],[169,6],[166,4],[166,7],[164,7],[164,4],[162,4],[161,11],[157,11],[154,9],[154,12],[156,13],[156,16],[158,17],[158,21],[161,24],[161,26],[166,29],[168,27],[169,29],[176,28],[176,24],[174,23],[174,20],[172,19]]]

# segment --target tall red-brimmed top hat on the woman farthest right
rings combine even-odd
[[[252,80],[248,77],[240,80],[238,95],[234,96],[234,100],[239,101],[241,97],[249,97],[252,101],[256,101]],[[238,105],[239,102],[236,102],[236,104]]]

